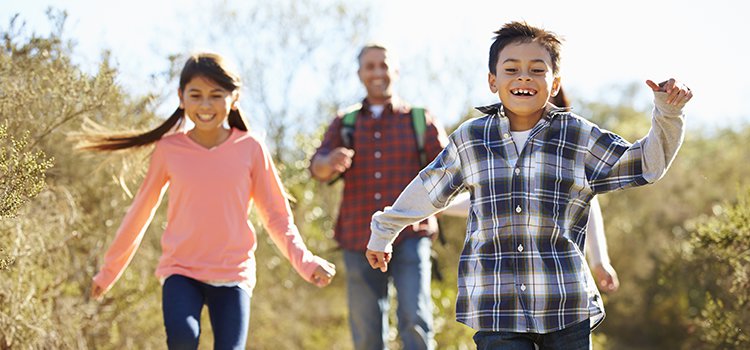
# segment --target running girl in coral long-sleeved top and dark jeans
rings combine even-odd
[[[156,268],[170,349],[197,348],[204,304],[214,348],[245,348],[256,265],[256,235],[247,220],[252,202],[302,278],[323,287],[335,275],[333,264],[307,250],[268,151],[247,132],[237,105],[240,86],[220,56],[193,55],[180,75],[180,106],[162,125],[135,136],[89,136],[82,147],[112,151],[156,144],[143,184],[94,277],[91,296],[101,298],[120,277],[170,187]],[[179,129],[185,116],[195,127],[165,136]]]

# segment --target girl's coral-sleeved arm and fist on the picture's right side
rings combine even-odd
[[[253,159],[257,161],[253,164],[251,177],[252,196],[260,218],[276,247],[289,260],[297,273],[306,281],[316,283],[313,272],[319,267],[326,269],[332,265],[315,256],[305,246],[294,224],[292,210],[273,160],[265,146],[260,141],[258,143],[260,147],[253,155]]]

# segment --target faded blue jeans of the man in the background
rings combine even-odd
[[[364,252],[344,250],[349,325],[356,350],[386,349],[390,280],[396,287],[403,348],[433,349],[431,248],[429,237],[405,239],[393,248],[386,273],[373,270]]]

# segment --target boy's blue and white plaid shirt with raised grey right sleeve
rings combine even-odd
[[[588,203],[661,177],[682,141],[682,118],[655,112],[648,152],[657,150],[642,163],[643,140],[630,144],[555,107],[518,154],[502,105],[478,109],[487,115],[461,125],[420,173],[435,208],[471,194],[457,320],[482,331],[548,333],[586,319],[595,327],[604,308],[582,253]]]

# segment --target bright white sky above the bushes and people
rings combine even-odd
[[[7,28],[10,16],[20,13],[30,30],[46,33],[49,22],[45,9],[66,9],[66,33],[77,43],[77,62],[93,70],[102,49],[110,49],[121,71],[121,83],[141,92],[148,88],[143,85],[150,74],[166,68],[166,54],[185,47],[184,42],[172,39],[180,37],[179,13],[202,11],[201,5],[206,3],[3,0],[0,26]],[[750,73],[746,67],[750,62],[750,5],[743,1],[377,3],[381,5],[373,6],[376,11],[371,18],[376,32],[373,39],[386,42],[399,53],[404,94],[429,106],[445,122],[457,120],[467,100],[473,105],[496,101],[487,88],[486,56],[492,32],[510,20],[526,20],[565,38],[562,78],[572,97],[587,101],[616,98],[613,86],[675,77],[695,93],[686,108],[688,117],[695,121],[693,125],[750,122],[750,112],[743,108],[750,101]],[[460,86],[410,90],[419,82],[407,80],[409,57],[424,52],[429,52],[433,58],[430,64],[438,71],[450,62],[465,62],[461,73],[466,81]],[[444,94],[432,96],[429,91],[434,89],[454,89],[461,98],[451,101]],[[645,85],[643,91],[648,91]]]

